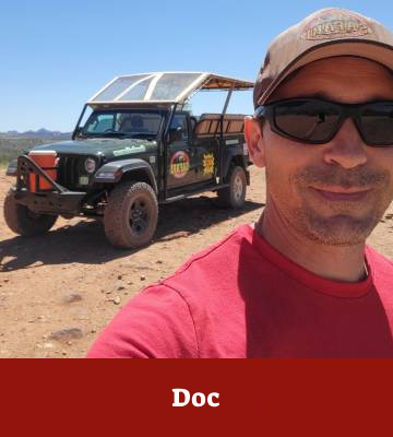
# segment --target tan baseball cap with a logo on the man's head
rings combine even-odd
[[[254,107],[265,104],[295,70],[333,56],[357,56],[393,70],[393,34],[378,21],[345,9],[312,13],[270,45],[255,81]]]

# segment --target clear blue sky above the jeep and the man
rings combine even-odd
[[[0,131],[71,131],[84,103],[121,74],[190,70],[253,81],[270,42],[327,7],[393,29],[391,0],[0,0]],[[216,97],[204,111],[217,110]],[[251,93],[229,111],[251,114]]]

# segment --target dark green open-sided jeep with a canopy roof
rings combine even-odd
[[[245,116],[226,110],[234,91],[252,87],[205,72],[114,79],[84,106],[72,141],[9,164],[16,185],[4,201],[8,226],[32,236],[59,215],[103,217],[112,245],[136,248],[153,238],[158,204],[216,191],[221,205],[241,208],[251,164]],[[227,93],[221,114],[187,110],[195,92],[217,90]]]

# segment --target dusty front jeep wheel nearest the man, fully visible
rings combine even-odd
[[[108,240],[122,249],[148,244],[158,220],[158,203],[153,188],[145,182],[124,181],[114,188],[104,214]]]

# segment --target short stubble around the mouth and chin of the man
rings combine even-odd
[[[372,204],[359,205],[356,202],[334,202],[329,205],[321,201],[321,212],[301,196],[300,206],[287,210],[288,223],[309,239],[327,246],[354,246],[364,244],[372,229],[378,225],[384,211],[392,200],[388,172],[366,172],[364,169],[344,170],[337,168],[306,168],[299,170],[291,182],[298,193],[306,192],[313,184],[325,187],[342,186],[343,188],[372,188]],[[329,202],[326,200],[326,202]],[[277,203],[277,202],[276,202]],[[324,214],[322,212],[325,212]],[[283,211],[284,212],[284,211]]]

